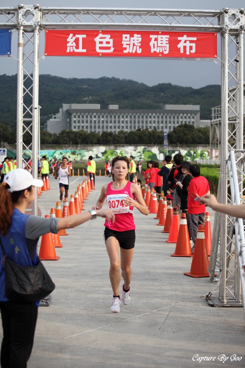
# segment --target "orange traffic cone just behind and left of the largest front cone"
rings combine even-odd
[[[171,257],[192,257],[191,244],[185,213],[182,213],[175,252]]]

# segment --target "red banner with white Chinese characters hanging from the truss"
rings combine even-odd
[[[217,33],[45,31],[46,56],[217,57]]]

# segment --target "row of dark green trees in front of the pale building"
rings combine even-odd
[[[32,141],[31,134],[24,134],[24,143],[29,145]],[[0,142],[15,144],[16,130],[8,125],[0,124]],[[209,127],[195,128],[193,125],[182,124],[168,133],[169,144],[202,145],[209,144]],[[117,134],[104,131],[102,134],[87,133],[85,130],[62,130],[59,134],[52,134],[41,128],[41,145],[162,145],[163,131],[137,129],[136,131],[119,131]]]

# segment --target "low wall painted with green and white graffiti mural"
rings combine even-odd
[[[195,161],[197,159],[208,160],[209,150],[207,149],[176,149],[168,150],[168,155],[174,156],[176,153],[181,153],[185,161]],[[134,160],[159,160],[162,161],[166,155],[166,149],[161,149],[159,146],[149,148],[145,146],[123,146],[117,149],[108,149],[106,146],[95,146],[92,149],[57,149],[57,150],[42,150],[41,157],[46,156],[47,160],[56,158],[60,160],[66,156],[72,161],[86,161],[89,156],[93,156],[94,160],[111,160],[115,156],[132,155]]]

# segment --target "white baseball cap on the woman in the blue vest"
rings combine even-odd
[[[8,184],[10,188],[7,189],[8,192],[18,192],[19,190],[24,190],[29,188],[31,185],[33,187],[42,187],[43,181],[34,179],[32,174],[25,169],[15,169],[9,171],[3,179],[3,182]]]

